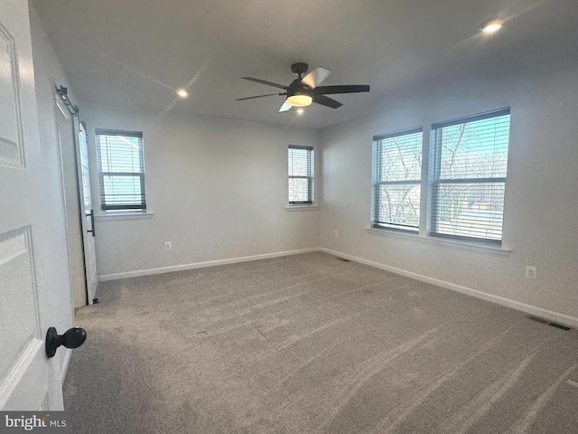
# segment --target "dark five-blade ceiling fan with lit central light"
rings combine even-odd
[[[319,67],[315,68],[313,71],[308,73],[303,77],[303,74],[307,72],[309,65],[307,63],[294,63],[291,65],[291,71],[297,74],[297,79],[293,80],[289,86],[284,86],[283,84],[274,83],[272,81],[266,81],[261,79],[254,79],[253,77],[241,77],[243,80],[255,81],[257,83],[266,84],[267,86],[273,86],[274,88],[283,89],[282,93],[267,93],[266,95],[257,95],[255,97],[238,98],[238,101],[245,99],[255,99],[263,97],[271,97],[273,95],[286,96],[285,102],[279,111],[287,111],[292,107],[306,107],[311,105],[313,102],[321,104],[322,106],[331,107],[331,109],[338,109],[343,104],[335,99],[326,97],[325,95],[331,95],[336,93],[355,93],[355,92],[368,92],[368,84],[350,84],[343,86],[320,86],[323,80],[325,80],[331,71],[325,68]]]

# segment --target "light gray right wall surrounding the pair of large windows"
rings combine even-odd
[[[576,77],[576,64],[547,64],[515,77],[424,83],[387,95],[371,118],[322,131],[322,247],[576,322]],[[511,107],[503,231],[503,247],[509,252],[464,250],[430,241],[425,234],[415,239],[365,230],[373,135],[419,125],[425,131],[433,122],[504,107]],[[336,230],[339,238],[334,237]],[[524,277],[526,265],[537,267],[536,280]]]

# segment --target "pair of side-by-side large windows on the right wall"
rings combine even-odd
[[[501,243],[509,109],[433,124],[427,182],[419,128],[373,139],[372,227],[419,231],[427,188],[427,233]]]

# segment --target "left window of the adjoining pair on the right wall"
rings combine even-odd
[[[371,226],[419,231],[422,128],[373,137]]]

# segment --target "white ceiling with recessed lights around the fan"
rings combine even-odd
[[[578,57],[578,0],[34,0],[82,105],[327,127],[358,118],[417,80],[502,74]],[[502,31],[480,34],[500,18]],[[369,84],[278,113],[290,65],[333,71],[323,85]],[[188,99],[175,90],[186,87]]]

